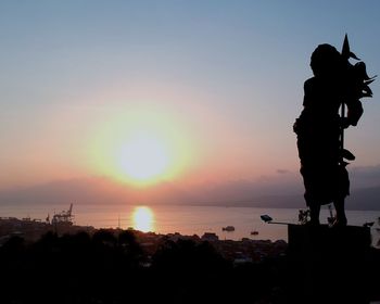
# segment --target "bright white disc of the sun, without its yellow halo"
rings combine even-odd
[[[169,165],[165,142],[154,134],[136,132],[121,149],[122,170],[136,181],[162,175]]]

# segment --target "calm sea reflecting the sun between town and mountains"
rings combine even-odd
[[[0,217],[17,217],[46,220],[54,214],[67,212],[69,204],[0,205]],[[183,236],[203,236],[216,233],[220,240],[288,241],[288,225],[297,224],[296,208],[264,208],[239,206],[199,206],[199,205],[121,205],[121,204],[74,204],[75,225],[94,228],[135,228],[144,232],[175,233]],[[270,224],[262,220],[262,215],[273,218]],[[349,225],[371,227],[372,245],[379,248],[380,211],[346,211]],[[322,208],[320,221],[327,224],[328,208]],[[233,231],[223,228],[233,226]],[[255,233],[252,233],[255,231]]]

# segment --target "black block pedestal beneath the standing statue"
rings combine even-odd
[[[293,303],[369,303],[368,227],[288,225],[288,233]]]

